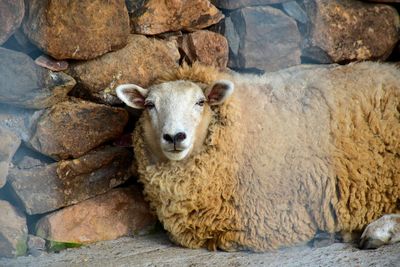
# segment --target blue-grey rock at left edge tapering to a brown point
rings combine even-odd
[[[0,47],[0,103],[46,108],[65,100],[75,80],[41,68],[25,54]]]

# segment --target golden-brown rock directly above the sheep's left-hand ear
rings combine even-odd
[[[180,54],[176,42],[130,35],[128,45],[102,57],[70,64],[76,78],[76,94],[96,102],[120,104],[115,87],[123,83],[150,85],[160,73],[177,68]]]

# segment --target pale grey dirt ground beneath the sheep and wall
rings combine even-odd
[[[377,250],[335,243],[262,254],[226,253],[181,248],[171,244],[165,234],[156,234],[99,242],[38,257],[3,258],[0,266],[400,266],[400,243]]]

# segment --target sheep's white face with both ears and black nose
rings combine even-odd
[[[182,160],[191,154],[196,142],[204,142],[199,128],[208,127],[210,118],[204,117],[210,116],[209,106],[224,103],[233,88],[227,80],[216,81],[204,91],[193,82],[173,81],[149,89],[124,84],[116,92],[128,106],[148,113],[151,135],[162,154],[169,160]]]

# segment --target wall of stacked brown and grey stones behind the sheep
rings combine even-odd
[[[398,2],[0,0],[0,257],[154,227],[131,168],[139,114],[117,85],[183,62],[398,60]]]

